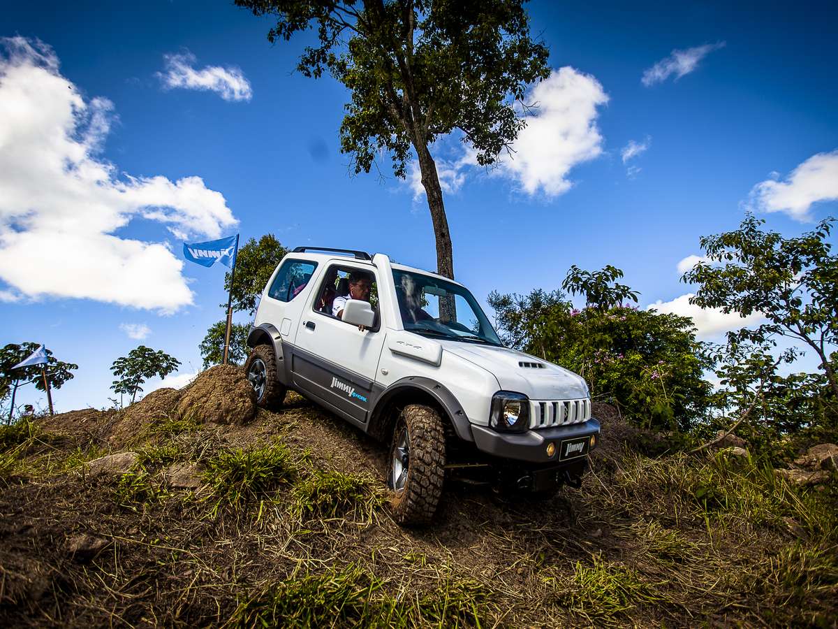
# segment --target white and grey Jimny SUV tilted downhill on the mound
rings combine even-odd
[[[432,519],[446,471],[541,496],[579,486],[599,437],[582,377],[504,347],[462,284],[380,253],[294,249],[247,344],[260,406],[290,388],[390,441],[402,524]]]

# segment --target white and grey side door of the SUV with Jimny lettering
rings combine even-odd
[[[385,331],[379,320],[368,330],[359,330],[331,314],[321,295],[334,294],[341,275],[353,270],[369,273],[373,287],[376,271],[372,265],[332,263],[320,277],[300,319],[292,358],[292,377],[303,389],[354,424],[364,427],[371,408],[373,384]],[[337,271],[338,273],[334,273]],[[334,283],[326,286],[327,283]],[[342,295],[339,295],[342,296]],[[375,306],[375,294],[370,292]]]

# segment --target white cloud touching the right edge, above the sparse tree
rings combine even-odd
[[[794,169],[784,181],[779,175],[753,186],[748,209],[785,212],[797,221],[810,220],[812,204],[838,200],[838,150],[817,153]]]

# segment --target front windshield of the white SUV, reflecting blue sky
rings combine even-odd
[[[393,279],[405,330],[436,338],[501,345],[467,289],[444,279],[396,269]]]

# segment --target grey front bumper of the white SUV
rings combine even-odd
[[[561,442],[566,439],[580,439],[597,435],[599,440],[599,422],[596,419],[588,419],[582,424],[569,424],[556,426],[541,430],[527,430],[525,433],[499,433],[488,426],[472,424],[474,444],[478,450],[488,455],[499,456],[504,459],[525,460],[530,463],[556,463],[564,465],[583,458],[573,457],[559,460]],[[556,452],[552,456],[547,455],[547,444],[556,444]]]

